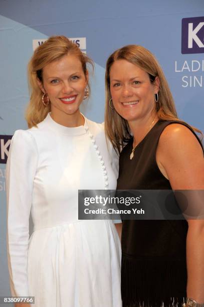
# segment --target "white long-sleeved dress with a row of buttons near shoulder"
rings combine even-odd
[[[116,188],[112,152],[103,125],[86,118],[68,128],[48,114],[15,132],[6,173],[12,295],[35,296],[38,307],[121,307],[115,226],[78,220],[78,189]]]

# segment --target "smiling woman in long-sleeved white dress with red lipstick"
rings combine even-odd
[[[78,220],[78,189],[115,189],[117,180],[103,125],[79,111],[89,93],[87,62],[63,36],[36,49],[29,63],[29,129],[17,130],[10,146],[11,291],[35,296],[38,307],[121,306],[116,228],[109,220]]]

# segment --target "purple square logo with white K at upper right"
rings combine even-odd
[[[181,53],[204,53],[204,17],[182,19]]]

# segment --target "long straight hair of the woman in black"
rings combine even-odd
[[[109,105],[111,99],[110,93],[110,68],[117,60],[126,60],[137,65],[149,75],[151,83],[154,83],[156,77],[159,78],[160,86],[158,92],[158,102],[155,110],[161,120],[178,121],[174,101],[170,92],[164,73],[153,54],[142,46],[127,45],[116,50],[107,60],[105,73],[106,105],[105,105],[105,131],[107,137],[112,142],[116,151],[120,152],[122,147],[132,137],[129,124],[122,118],[115,109]],[[179,122],[182,122],[179,120]],[[192,127],[193,130],[201,133],[200,130]]]

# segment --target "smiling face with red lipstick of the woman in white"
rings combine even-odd
[[[48,94],[52,118],[62,125],[77,122],[81,117],[79,106],[84,98],[88,83],[81,61],[74,55],[67,55],[43,68],[41,90]]]

